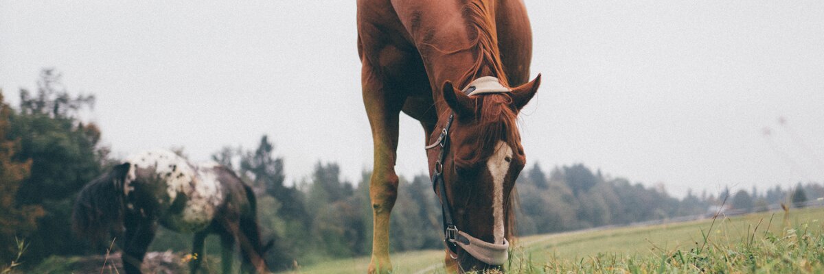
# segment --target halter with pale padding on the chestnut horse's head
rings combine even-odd
[[[480,77],[472,81],[463,92],[468,95],[479,95],[486,93],[503,93],[510,90],[500,84],[498,78],[495,77]],[[443,127],[438,140],[424,148],[429,150],[440,146],[441,152],[438,154],[438,160],[435,161],[435,172],[432,176],[432,187],[436,193],[441,193],[441,212],[443,218],[443,242],[449,248],[449,256],[456,259],[452,254],[457,253],[457,248],[461,247],[472,257],[481,262],[490,265],[502,265],[507,262],[509,254],[509,242],[506,238],[503,239],[503,244],[494,244],[485,242],[481,239],[472,237],[466,232],[458,230],[452,219],[452,206],[447,198],[446,183],[443,180],[443,161],[447,158],[447,151],[449,151],[449,128],[452,127],[452,120],[455,118],[455,113],[449,114],[447,124]]]

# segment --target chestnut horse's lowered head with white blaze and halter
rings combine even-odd
[[[435,92],[448,108],[440,108],[439,131],[430,137],[439,147],[428,146],[429,170],[443,205],[448,253],[461,271],[499,268],[507,261],[515,214],[509,201],[526,164],[517,114],[540,83],[539,75],[508,88],[497,78],[481,77],[463,91],[447,81]]]

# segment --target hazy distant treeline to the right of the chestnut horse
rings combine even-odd
[[[534,165],[522,172],[516,185],[521,235],[709,216],[719,210],[766,211],[770,205],[780,203],[803,207],[807,196],[824,197],[822,184],[798,183],[793,191],[776,186],[761,193],[752,188],[749,193],[742,189],[730,195],[729,188],[725,188],[718,196],[706,191],[697,196],[689,190],[686,197],[678,199],[669,196],[662,185],[647,188],[628,179],[605,176],[600,170],[593,173],[581,164],[556,167],[548,176]]]

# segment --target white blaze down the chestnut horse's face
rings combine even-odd
[[[509,162],[513,156],[513,149],[506,142],[499,141],[495,152],[486,160],[489,174],[492,174],[492,216],[494,226],[492,233],[495,244],[503,244],[503,178],[509,171]]]

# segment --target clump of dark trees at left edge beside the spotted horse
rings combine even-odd
[[[36,91],[20,91],[17,109],[0,91],[0,265],[16,255],[16,239],[25,239],[27,266],[89,250],[68,229],[69,216],[77,192],[111,160],[100,129],[77,118],[94,96],[70,95],[60,79],[41,72]]]

